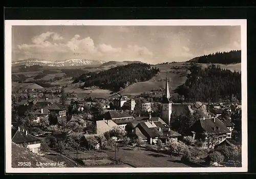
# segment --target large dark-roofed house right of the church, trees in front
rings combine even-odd
[[[217,117],[203,117],[196,121],[189,129],[189,134],[193,134],[194,139],[201,139],[204,142],[204,147],[209,147],[208,145],[211,144],[211,142],[207,142],[207,133],[213,135],[218,144],[224,141],[230,132],[226,125]],[[214,146],[214,144],[212,143],[211,146]]]

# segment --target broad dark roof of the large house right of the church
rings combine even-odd
[[[215,134],[230,132],[230,130],[225,126],[225,124],[216,117],[199,119],[197,122],[195,122],[195,124],[191,126],[190,131],[195,131],[196,133],[202,133],[205,131]]]

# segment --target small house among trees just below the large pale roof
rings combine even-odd
[[[93,134],[93,135],[84,135],[84,146],[87,147],[87,148],[90,148],[91,146],[94,148],[94,149],[100,149],[100,145],[103,141],[106,141],[106,138],[103,134]],[[91,138],[95,138],[94,141],[97,141],[95,142],[94,144],[90,144],[90,140]]]

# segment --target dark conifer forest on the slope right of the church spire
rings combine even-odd
[[[193,65],[185,84],[177,88],[186,101],[229,102],[240,101],[241,73],[223,70],[212,64],[206,69]]]

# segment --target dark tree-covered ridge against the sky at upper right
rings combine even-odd
[[[241,63],[241,50],[230,51],[230,52],[216,52],[215,54],[203,55],[200,57],[193,58],[187,62],[197,63]]]

